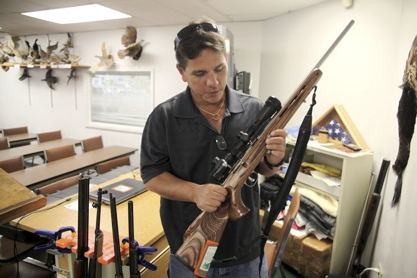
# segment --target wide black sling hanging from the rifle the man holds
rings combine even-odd
[[[304,158],[304,154],[306,153],[307,143],[309,142],[311,134],[311,113],[313,112],[313,106],[316,104],[316,90],[317,86],[314,87],[313,99],[310,104],[310,109],[308,110],[303,122],[301,123],[297,137],[297,142],[295,144],[294,152],[291,157],[291,162],[288,166],[288,170],[285,174],[284,181],[282,182],[282,186],[279,190],[279,193],[276,195],[274,201],[271,204],[271,208],[269,209],[268,220],[266,221],[266,225],[263,228],[264,233],[261,236],[261,253],[259,254],[259,275],[261,274],[262,259],[264,257],[264,247],[266,240],[269,236],[269,232],[271,231],[271,227],[274,224],[275,219],[278,217],[279,212],[286,203],[286,199],[289,195],[289,192],[291,191],[292,185],[294,184],[294,180],[300,169],[301,163]],[[272,266],[273,265],[274,262],[272,263]]]

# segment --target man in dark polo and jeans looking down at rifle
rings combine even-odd
[[[161,195],[161,221],[171,255],[168,277],[195,277],[173,254],[201,211],[213,212],[228,192],[209,173],[211,161],[223,157],[240,131],[245,130],[263,103],[226,85],[227,54],[217,25],[207,18],[190,23],[176,36],[176,68],[185,91],[158,105],[149,116],[141,144],[141,176],[146,188]],[[266,140],[271,153],[256,167],[273,175],[285,153],[285,130],[274,130]],[[241,258],[233,257],[261,234],[259,188],[243,186],[243,203],[250,209],[226,224],[206,277],[259,277],[259,242]],[[227,200],[226,200],[227,201]],[[266,260],[261,277],[267,277]]]

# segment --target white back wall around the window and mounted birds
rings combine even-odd
[[[236,42],[235,64],[239,70],[252,73],[253,92],[258,92],[259,65],[261,53],[261,22],[223,23],[234,34]],[[101,55],[101,43],[106,41],[108,53],[113,55],[116,67],[113,70],[154,70],[155,105],[185,90],[184,83],[176,70],[173,41],[178,30],[183,26],[165,26],[154,28],[137,28],[138,40],[147,43],[138,61],[130,57],[120,60],[116,52],[122,48],[120,38],[123,29],[82,32],[73,34],[75,47],[71,52],[81,57],[80,65],[94,66]],[[246,44],[247,32],[254,34],[255,41]],[[43,49],[48,45],[46,35],[22,37],[33,44],[35,38]],[[66,34],[49,35],[51,44],[66,41]],[[20,59],[17,59],[20,62]],[[101,70],[105,70],[104,68]],[[10,68],[8,72],[0,70],[0,128],[28,126],[29,132],[41,133],[61,130],[64,138],[85,139],[97,135],[103,136],[103,143],[140,148],[141,134],[86,128],[88,123],[88,90],[90,73],[86,69],[77,69],[76,86],[71,80],[67,86],[69,69],[55,69],[53,75],[58,78],[55,90],[50,89],[44,81],[46,70],[30,69],[32,78],[19,81],[23,69]],[[30,95],[30,98],[29,98]],[[79,151],[79,150],[78,150]],[[139,165],[139,152],[131,156],[132,165]]]

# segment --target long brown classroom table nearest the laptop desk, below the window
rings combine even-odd
[[[54,181],[81,173],[90,169],[95,164],[114,158],[132,155],[137,150],[137,148],[110,146],[36,165],[10,173],[10,175],[29,189],[33,190],[43,185],[53,183]]]

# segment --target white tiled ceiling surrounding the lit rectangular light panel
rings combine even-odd
[[[216,22],[265,20],[327,0],[0,0],[0,31],[11,35],[53,34],[163,25],[186,25],[203,15]],[[132,18],[60,25],[21,12],[98,3]]]

